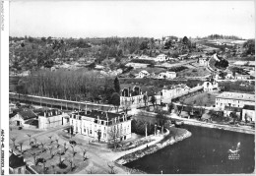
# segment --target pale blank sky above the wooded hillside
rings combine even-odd
[[[254,1],[13,1],[11,36],[255,38]]]

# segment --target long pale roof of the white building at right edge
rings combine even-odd
[[[221,93],[216,98],[255,101],[255,94],[224,91],[223,93]]]

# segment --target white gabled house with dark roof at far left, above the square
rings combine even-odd
[[[37,115],[28,108],[22,109],[15,116],[10,118],[11,125],[19,126],[19,127],[31,127],[34,125],[36,127],[36,123],[33,124],[37,120]]]

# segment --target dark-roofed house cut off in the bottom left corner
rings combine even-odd
[[[9,156],[9,171],[10,174],[26,174],[26,162],[22,155],[12,153]]]

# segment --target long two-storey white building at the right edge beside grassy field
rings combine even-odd
[[[224,91],[216,97],[216,107],[224,109],[224,106],[243,107],[254,105],[255,94]]]

